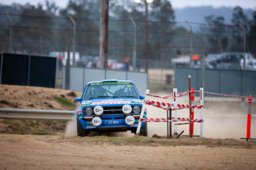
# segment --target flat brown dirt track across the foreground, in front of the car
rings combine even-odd
[[[0,169],[256,168],[256,148],[253,142],[253,147],[230,148],[207,145],[163,146],[157,143],[154,145],[153,141],[150,144],[150,140],[136,146],[101,142],[92,137],[0,134]]]

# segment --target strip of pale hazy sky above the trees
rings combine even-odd
[[[58,6],[65,7],[68,0],[55,0]],[[132,1],[132,0],[120,0],[120,1]],[[157,1],[157,0],[155,0]],[[170,0],[173,8],[183,8],[185,6],[202,6],[212,5],[214,7],[220,6],[241,6],[242,8],[252,8],[256,10],[256,0]],[[38,2],[44,2],[40,0],[1,0],[0,3],[12,4],[12,3],[31,3],[37,4]]]

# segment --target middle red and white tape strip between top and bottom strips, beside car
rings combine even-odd
[[[172,108],[174,106],[173,103],[164,103],[164,102],[159,102],[159,101],[144,101],[144,103],[151,105],[151,106],[156,106],[157,108],[162,108],[164,110],[167,110],[167,108],[163,107],[169,107]],[[196,109],[201,109],[203,108],[203,105],[192,105],[191,108],[196,108]],[[188,104],[177,104],[177,108],[172,108],[172,110],[180,110],[184,108],[190,108]]]

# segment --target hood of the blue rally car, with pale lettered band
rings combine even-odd
[[[134,98],[108,98],[108,99],[92,99],[82,101],[83,106],[93,106],[93,105],[119,105],[119,104],[142,104],[141,99]]]

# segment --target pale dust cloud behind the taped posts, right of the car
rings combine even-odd
[[[149,100],[173,103],[173,99],[159,99],[148,97]],[[177,99],[179,104],[188,104],[188,96]],[[196,97],[195,104],[200,104]],[[204,103],[204,137],[205,138],[246,138],[247,125],[247,104],[241,104],[241,99],[224,97],[205,97]],[[166,118],[166,110],[161,110],[154,106],[147,106],[148,118]],[[255,106],[252,110],[252,131],[251,138],[256,138],[256,117]],[[172,111],[172,117],[174,113]],[[177,111],[177,117],[189,118],[189,109]],[[195,118],[200,118],[200,110],[195,109]],[[175,122],[173,122],[175,124]],[[194,124],[194,134],[200,134],[200,124]],[[172,125],[172,132],[174,125]],[[189,134],[189,125],[178,125],[178,133],[184,130],[184,134]],[[167,123],[148,122],[148,136],[158,134],[166,136]]]

